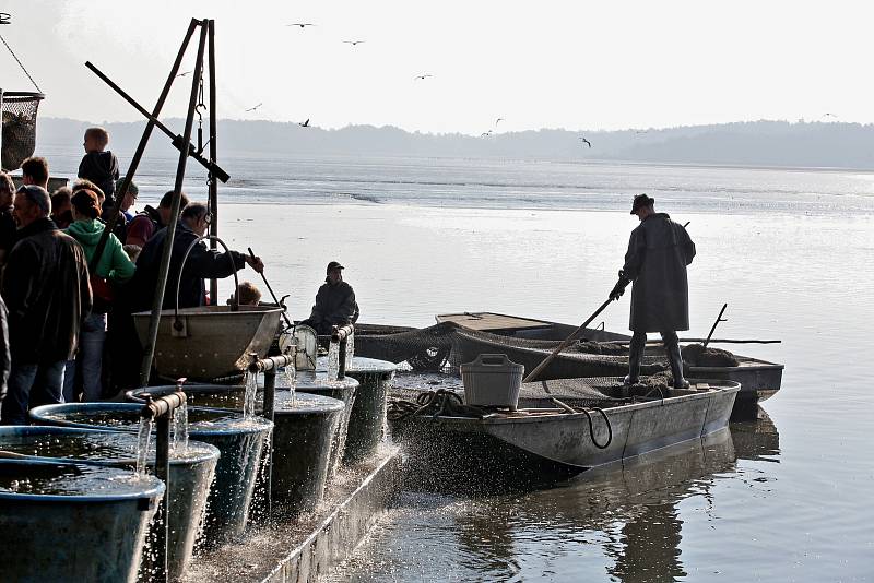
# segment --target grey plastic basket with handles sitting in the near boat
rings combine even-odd
[[[510,362],[506,354],[481,354],[460,368],[468,405],[516,409],[522,388],[522,365]]]

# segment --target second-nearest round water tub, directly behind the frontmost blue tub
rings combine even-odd
[[[150,467],[154,471],[154,445]],[[0,427],[0,450],[33,460],[60,460],[132,471],[138,439],[132,433],[78,429],[73,427]],[[208,443],[189,441],[184,456],[170,456],[170,540],[167,566],[170,580],[185,572],[200,534],[206,497],[215,475],[218,450]],[[143,569],[153,569],[145,559]]]

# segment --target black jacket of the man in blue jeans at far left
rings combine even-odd
[[[91,313],[88,267],[82,247],[50,218],[19,230],[3,272],[12,359],[23,365],[70,360]]]

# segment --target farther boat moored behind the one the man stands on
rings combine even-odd
[[[540,364],[558,343],[577,329],[568,324],[532,320],[491,312],[464,312],[440,314],[438,322],[454,323],[462,326],[454,334],[452,345],[452,362],[469,362],[480,354],[506,354],[513,362],[524,365],[525,372]],[[603,329],[584,330],[580,338],[593,342],[627,342],[631,337],[625,334],[607,332]],[[722,379],[741,383],[737,406],[748,407],[765,401],[780,390],[783,377],[783,365],[759,360],[748,356],[739,356],[736,367],[698,367],[686,366],[686,374],[699,379]],[[611,365],[612,362],[612,365]],[[546,367],[541,378],[564,379],[592,377],[599,374],[626,374],[627,356],[593,355],[568,352],[559,354]],[[611,369],[611,366],[614,369]],[[604,372],[598,372],[599,370]],[[641,367],[642,374],[651,374],[657,370],[666,370],[668,359],[660,346],[647,348]]]

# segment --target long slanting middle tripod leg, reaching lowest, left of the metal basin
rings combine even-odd
[[[185,120],[184,143],[191,143],[191,127],[194,124],[194,112],[198,103],[198,87],[200,75],[203,71],[203,52],[206,45],[206,26],[204,22],[199,23],[200,43],[198,45],[198,58],[194,63],[194,74],[191,81],[191,97],[188,103],[188,116]],[[152,360],[155,357],[155,342],[157,342],[157,329],[161,323],[161,309],[164,306],[164,291],[167,287],[167,273],[169,272],[170,258],[173,257],[173,241],[176,235],[176,224],[179,222],[181,206],[182,182],[185,181],[185,167],[188,162],[186,148],[179,151],[179,164],[176,168],[176,186],[173,190],[173,204],[170,206],[170,221],[167,225],[167,235],[164,238],[164,253],[161,258],[161,271],[155,286],[155,297],[152,301],[152,319],[149,322],[149,340],[145,344],[142,366],[140,367],[140,385],[149,385],[149,377],[152,373]],[[181,273],[179,274],[181,276]]]

